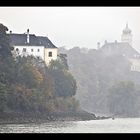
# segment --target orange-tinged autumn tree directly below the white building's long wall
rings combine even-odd
[[[43,82],[43,74],[37,67],[37,61],[33,57],[17,57],[15,64],[17,82],[26,85],[27,87],[36,87]]]

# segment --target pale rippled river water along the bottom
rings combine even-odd
[[[0,133],[140,133],[140,118],[0,124]]]

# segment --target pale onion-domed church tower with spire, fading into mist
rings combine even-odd
[[[122,32],[121,41],[127,42],[132,46],[132,34],[131,34],[131,32],[132,31],[128,28],[128,23],[127,23],[125,29]]]

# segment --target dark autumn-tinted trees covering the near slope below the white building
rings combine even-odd
[[[6,31],[0,24],[0,114],[75,112],[77,86],[65,56],[49,66],[32,56],[15,58]]]

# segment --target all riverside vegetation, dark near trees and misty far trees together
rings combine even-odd
[[[124,57],[61,47],[46,66],[33,56],[13,57],[7,31],[0,24],[0,122],[106,118],[86,111],[140,116],[140,73]]]

